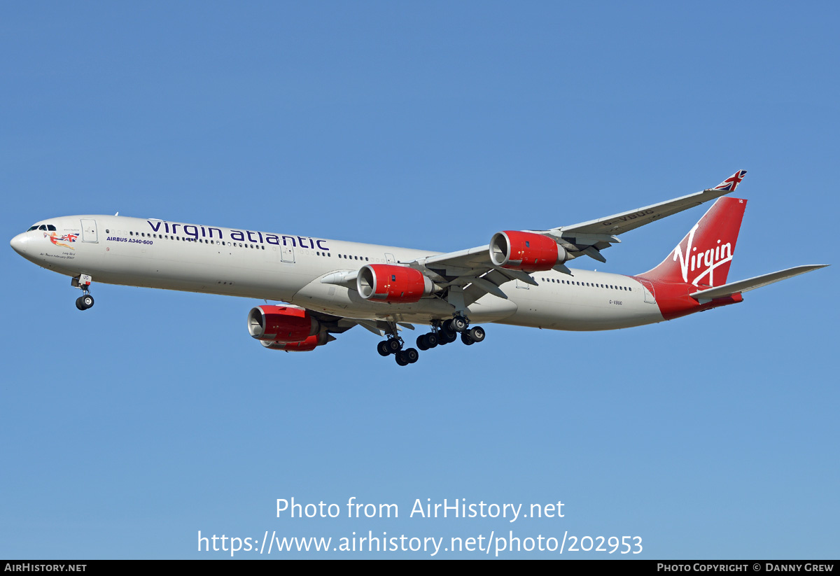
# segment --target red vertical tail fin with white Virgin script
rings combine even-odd
[[[746,207],[746,200],[719,198],[662,264],[639,276],[701,287],[726,284]]]

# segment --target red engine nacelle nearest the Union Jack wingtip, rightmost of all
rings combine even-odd
[[[542,234],[505,230],[493,235],[490,259],[496,266],[523,272],[551,270],[569,259],[558,243]]]

